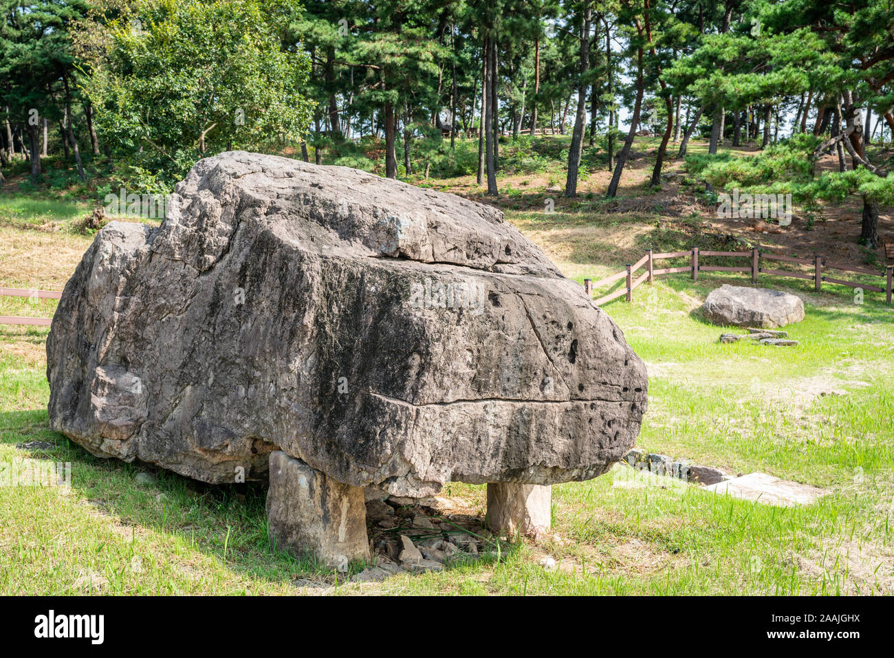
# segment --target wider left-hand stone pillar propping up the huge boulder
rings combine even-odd
[[[283,451],[270,455],[267,527],[278,549],[347,570],[369,559],[363,488],[343,485]]]

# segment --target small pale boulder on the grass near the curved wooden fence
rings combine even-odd
[[[714,325],[785,326],[804,319],[804,302],[790,292],[724,283],[708,293],[702,312]]]

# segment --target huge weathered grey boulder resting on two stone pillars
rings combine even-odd
[[[618,327],[500,211],[243,152],[198,162],[160,227],[97,233],[46,352],[55,430],[210,483],[274,451],[408,496],[583,480],[646,403]]]

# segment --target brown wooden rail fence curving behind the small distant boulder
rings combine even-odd
[[[655,269],[655,261],[664,260],[666,258],[683,257],[688,257],[690,259],[689,265],[683,267],[661,267]],[[708,266],[699,263],[700,257],[747,258],[751,262],[747,266],[739,267]],[[781,262],[810,266],[813,268],[813,272],[807,273],[796,272],[792,270],[767,268],[765,266],[762,266],[762,264],[768,265],[765,263],[765,261],[770,261],[769,265],[772,265],[772,262]],[[639,268],[643,266],[645,266],[645,272],[634,278],[634,274],[636,274],[637,270],[639,270]],[[840,272],[856,272],[857,274],[879,276],[884,279],[884,287],[882,287],[881,285],[872,285],[870,283],[857,283],[853,281],[846,281],[844,279],[833,278],[824,274],[828,270],[837,270]],[[643,283],[645,281],[652,283],[654,281],[654,277],[656,276],[660,276],[662,274],[678,274],[681,272],[688,272],[692,274],[693,281],[698,281],[699,272],[749,273],[751,274],[752,283],[757,283],[758,274],[771,274],[772,276],[791,276],[796,279],[813,281],[814,289],[816,291],[822,290],[823,282],[837,283],[839,285],[846,285],[851,288],[860,288],[864,291],[884,292],[886,298],[885,300],[890,304],[891,279],[892,276],[894,276],[894,266],[888,266],[885,268],[884,273],[880,273],[876,270],[870,270],[864,267],[847,267],[828,263],[826,262],[826,257],[824,256],[814,256],[813,258],[794,258],[790,256],[778,256],[776,254],[764,253],[760,249],[752,249],[751,251],[699,251],[697,247],[694,247],[689,251],[671,251],[661,254],[655,254],[653,253],[652,249],[649,249],[644,257],[637,260],[636,263],[628,265],[623,272],[619,272],[618,274],[611,274],[611,276],[606,276],[604,279],[595,283],[593,283],[590,279],[584,279],[584,288],[586,290],[586,294],[592,297],[595,288],[600,288],[608,285],[609,283],[614,283],[616,281],[624,279],[624,286],[620,287],[617,291],[611,292],[604,297],[596,299],[595,301],[598,305],[602,305],[608,301],[611,301],[612,299],[618,299],[619,297],[624,297],[625,299],[630,301],[631,299],[633,299],[633,291],[636,290],[637,286],[640,283]]]

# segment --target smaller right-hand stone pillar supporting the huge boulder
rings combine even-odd
[[[550,487],[513,482],[487,483],[487,527],[536,537],[550,529]]]

